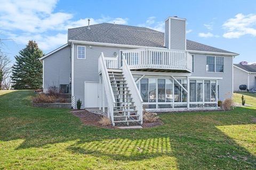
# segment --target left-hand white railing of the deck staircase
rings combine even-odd
[[[111,87],[107,65],[103,53],[101,53],[99,56],[99,73],[102,75],[102,83],[104,85],[104,90],[108,101],[108,116],[110,116],[109,118],[111,119],[111,122],[114,123],[114,105],[116,101],[113,89]],[[104,97],[104,94],[102,94],[102,96]],[[105,111],[105,108],[103,108],[103,111]]]

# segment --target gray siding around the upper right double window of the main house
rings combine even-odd
[[[191,74],[193,77],[218,77],[220,87],[220,100],[231,97],[233,94],[233,57],[224,57],[224,73],[219,72],[206,72],[206,55],[194,54],[195,56],[195,72]]]

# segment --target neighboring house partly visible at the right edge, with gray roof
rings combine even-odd
[[[256,65],[234,64],[234,91],[245,84],[247,89],[256,89]]]

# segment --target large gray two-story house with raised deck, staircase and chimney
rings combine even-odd
[[[68,43],[41,58],[43,88],[69,87],[72,105],[108,108],[113,124],[149,110],[216,109],[233,93],[238,54],[186,39],[186,19],[165,32],[102,23],[68,29]]]

